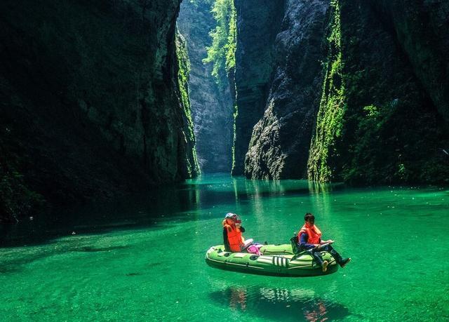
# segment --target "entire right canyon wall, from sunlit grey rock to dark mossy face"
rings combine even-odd
[[[445,1],[286,1],[262,20],[248,18],[267,6],[236,6],[236,156],[246,154],[236,161],[247,177],[448,182]]]

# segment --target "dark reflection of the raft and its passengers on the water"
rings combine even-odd
[[[330,321],[349,315],[342,304],[315,297],[313,291],[232,286],[210,294],[234,311],[282,321]]]

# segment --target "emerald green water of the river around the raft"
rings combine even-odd
[[[449,191],[203,177],[4,227],[2,321],[447,321]],[[225,213],[286,243],[306,212],[352,257],[313,278],[208,267]],[[74,234],[73,234],[74,233]],[[24,246],[24,245],[28,246]],[[7,246],[7,247],[6,247]]]

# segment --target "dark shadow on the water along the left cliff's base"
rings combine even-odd
[[[168,186],[114,201],[53,210],[24,218],[18,224],[0,224],[0,247],[38,245],[74,234],[101,234],[138,227],[158,228],[173,218],[189,220],[188,216],[183,218],[180,215],[194,210],[197,203],[198,192],[195,189],[182,190],[178,186]]]

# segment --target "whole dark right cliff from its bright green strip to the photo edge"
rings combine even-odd
[[[447,182],[448,10],[442,1],[332,1],[309,177]]]

